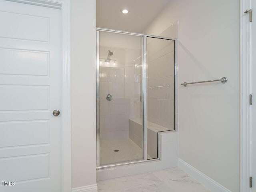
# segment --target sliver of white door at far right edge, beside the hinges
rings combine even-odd
[[[251,192],[256,192],[256,2],[252,0],[252,126],[251,126]]]

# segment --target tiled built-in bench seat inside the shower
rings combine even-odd
[[[158,132],[170,131],[169,128],[147,121],[148,158],[157,158]],[[142,118],[129,119],[129,138],[142,148],[143,128]]]

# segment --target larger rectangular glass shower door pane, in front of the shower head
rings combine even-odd
[[[99,33],[100,166],[142,160],[142,37]]]

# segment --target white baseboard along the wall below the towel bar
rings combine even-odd
[[[184,170],[187,174],[191,175],[193,178],[198,180],[198,182],[202,183],[212,192],[231,192],[226,187],[222,186],[218,182],[214,181],[212,178],[206,176],[196,168],[192,167],[190,164],[179,158],[178,166]]]

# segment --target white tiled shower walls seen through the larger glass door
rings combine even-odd
[[[100,47],[100,58],[106,58],[108,50],[116,60],[100,64],[100,140],[113,138],[128,138],[129,118],[139,118],[140,78],[134,60],[139,58],[140,50]],[[112,101],[106,100],[106,95],[113,95]]]

